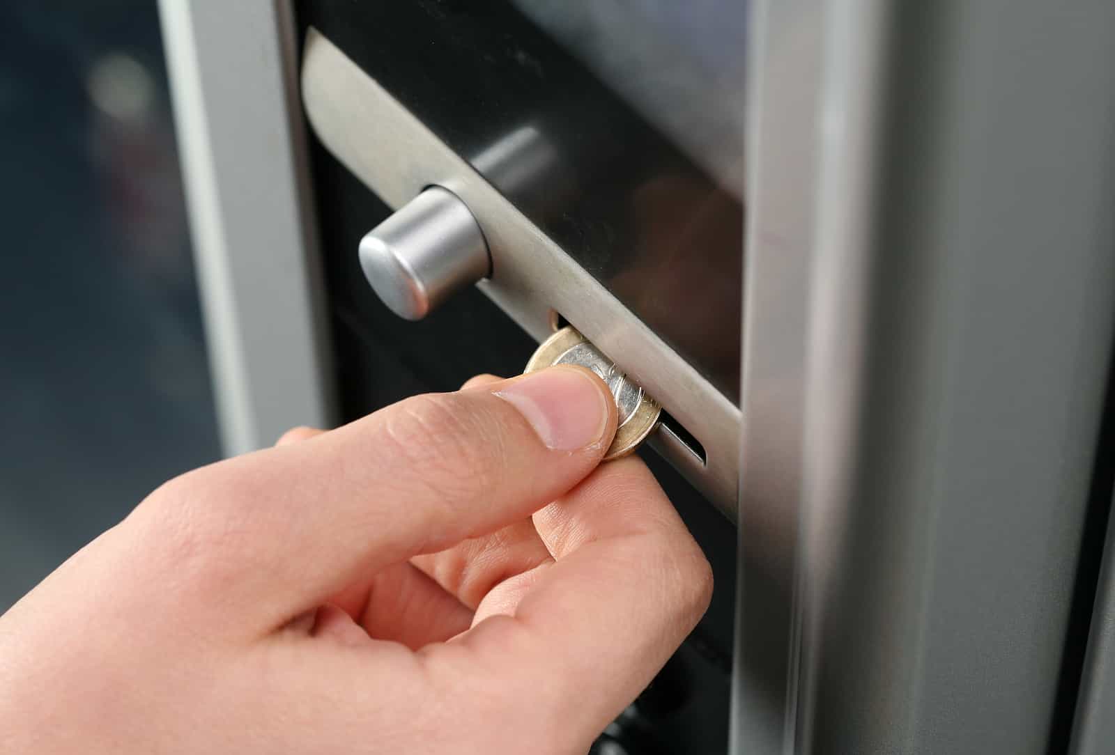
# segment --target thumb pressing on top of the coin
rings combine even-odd
[[[190,472],[125,524],[164,555],[177,600],[243,606],[254,633],[374,570],[529,517],[592,471],[615,423],[603,381],[551,367]]]

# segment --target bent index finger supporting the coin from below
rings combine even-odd
[[[475,679],[478,665],[488,699],[514,710],[503,719],[524,737],[545,732],[585,751],[696,626],[712,573],[638,459],[598,468],[534,522],[555,562],[540,569],[514,616],[421,653],[450,685]]]

